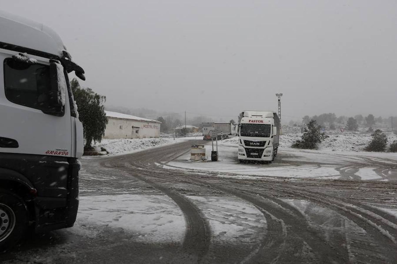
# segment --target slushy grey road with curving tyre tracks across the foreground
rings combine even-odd
[[[190,145],[82,160],[75,226],[28,238],[1,257],[5,263],[395,263],[393,157],[286,149],[272,165],[241,169],[235,160],[200,169],[181,160]],[[277,170],[301,165],[318,175]],[[258,168],[268,174],[252,172]]]

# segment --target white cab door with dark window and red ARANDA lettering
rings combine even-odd
[[[63,114],[48,113],[45,108],[52,96],[49,59],[27,55],[29,61],[23,62],[13,55],[17,52],[0,49],[0,137],[16,141],[17,147],[3,146],[0,152],[70,157],[67,91]],[[61,81],[62,76],[58,75]]]

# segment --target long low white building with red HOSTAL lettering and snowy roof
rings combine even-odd
[[[105,139],[143,139],[160,137],[160,121],[105,111],[108,124]]]

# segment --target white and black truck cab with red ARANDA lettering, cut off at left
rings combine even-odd
[[[0,252],[28,229],[73,226],[83,126],[68,73],[85,79],[62,40],[0,11]]]

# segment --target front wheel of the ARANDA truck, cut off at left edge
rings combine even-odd
[[[25,234],[28,212],[23,200],[0,189],[0,253],[13,247]]]

